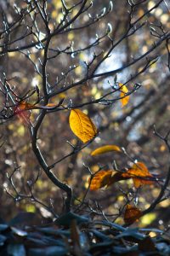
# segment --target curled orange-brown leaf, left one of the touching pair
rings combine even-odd
[[[122,179],[126,178],[122,177],[121,172],[111,170],[97,172],[90,183],[90,190],[98,190],[105,186],[110,186],[112,183],[116,183]]]

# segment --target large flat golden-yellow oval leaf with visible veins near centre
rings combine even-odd
[[[71,110],[69,123],[71,131],[82,140],[82,143],[88,143],[97,135],[97,128],[92,120],[79,109]]]

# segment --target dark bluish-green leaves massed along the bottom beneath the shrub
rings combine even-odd
[[[33,213],[20,213],[8,224],[0,222],[0,253],[7,256],[169,255],[166,232],[129,229],[109,221],[92,221],[69,212],[54,224],[30,225]],[[102,226],[103,228],[99,228]],[[153,231],[153,230],[152,230]]]

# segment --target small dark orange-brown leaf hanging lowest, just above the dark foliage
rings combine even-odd
[[[137,207],[127,205],[124,213],[124,222],[126,224],[133,224],[133,222],[138,221],[142,216],[142,212]]]

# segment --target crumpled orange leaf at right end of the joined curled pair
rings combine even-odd
[[[148,168],[142,162],[137,162],[136,164],[133,164],[131,169],[128,169],[127,172],[122,173],[122,177],[132,177],[134,187],[136,189],[138,189],[141,185],[150,185],[154,183],[154,181],[149,180],[150,177],[153,178],[153,176],[150,174]],[[144,179],[142,177],[144,177]]]

